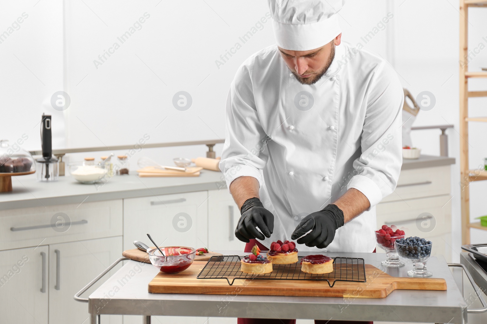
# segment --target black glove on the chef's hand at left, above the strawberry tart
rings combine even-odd
[[[259,198],[249,198],[240,208],[240,217],[235,237],[243,242],[250,242],[250,239],[264,239],[271,237],[274,231],[274,215],[265,209]],[[257,230],[259,227],[261,232]]]

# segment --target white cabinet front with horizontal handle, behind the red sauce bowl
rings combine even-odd
[[[124,199],[124,250],[134,240],[153,246],[208,246],[208,192]]]

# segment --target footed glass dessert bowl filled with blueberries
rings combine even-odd
[[[410,277],[433,275],[426,269],[426,263],[431,256],[431,241],[414,236],[398,239],[395,244],[399,258],[406,263],[412,263],[412,270],[408,271]]]

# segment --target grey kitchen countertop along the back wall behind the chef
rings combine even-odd
[[[455,159],[445,156],[421,155],[417,160],[403,160],[402,170],[429,168],[454,164]],[[114,176],[106,183],[84,185],[70,176],[61,176],[57,182],[37,182],[36,175],[12,177],[12,192],[0,193],[0,210],[75,204],[83,201],[103,201],[133,197],[146,197],[226,187],[223,174],[201,171],[199,177],[139,178],[130,175]]]

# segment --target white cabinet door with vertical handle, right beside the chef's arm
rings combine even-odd
[[[208,191],[208,240],[212,250],[244,251],[245,243],[235,237],[240,210],[226,188]]]

